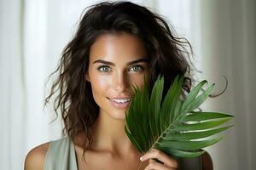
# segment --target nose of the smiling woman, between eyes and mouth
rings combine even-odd
[[[117,92],[124,92],[129,88],[129,77],[125,72],[116,73],[113,77],[113,89]]]

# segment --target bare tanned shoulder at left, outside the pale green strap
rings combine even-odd
[[[25,170],[44,169],[44,158],[49,148],[49,142],[40,144],[28,152],[25,159]]]

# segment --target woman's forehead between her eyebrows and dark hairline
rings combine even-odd
[[[137,37],[127,33],[103,34],[90,47],[90,61],[95,59],[132,60],[146,57],[147,52]]]

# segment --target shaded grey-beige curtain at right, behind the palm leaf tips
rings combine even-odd
[[[207,108],[235,115],[235,127],[212,146],[216,169],[255,169],[256,2],[201,1],[201,61],[204,76],[229,87]]]

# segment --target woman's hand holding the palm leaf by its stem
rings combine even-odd
[[[157,159],[163,163],[154,161],[153,159]],[[177,161],[171,156],[166,155],[166,153],[161,150],[153,149],[142,156],[140,160],[149,160],[149,164],[144,170],[177,170]]]

